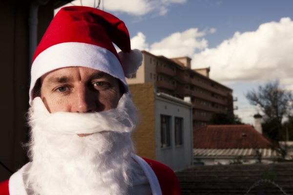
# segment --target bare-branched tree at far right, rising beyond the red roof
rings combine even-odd
[[[252,105],[264,113],[263,132],[272,140],[282,140],[282,120],[292,113],[292,92],[280,87],[279,81],[268,81],[245,95]]]

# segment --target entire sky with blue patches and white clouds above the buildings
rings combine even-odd
[[[248,90],[274,79],[293,90],[293,0],[101,0],[102,7],[124,20],[132,46],[210,66],[210,78],[233,89],[235,114],[246,123],[256,112]]]

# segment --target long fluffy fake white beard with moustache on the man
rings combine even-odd
[[[50,114],[41,98],[29,110],[32,160],[26,187],[35,195],[125,195],[131,185],[136,108],[124,94],[99,113]],[[92,134],[79,137],[77,134]]]

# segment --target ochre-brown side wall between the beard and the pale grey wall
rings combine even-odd
[[[129,85],[129,89],[140,115],[140,123],[132,134],[137,154],[155,160],[154,85],[152,83],[132,84]]]

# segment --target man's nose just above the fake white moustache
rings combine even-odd
[[[87,113],[97,110],[96,95],[86,86],[77,87],[71,96],[71,112]]]

